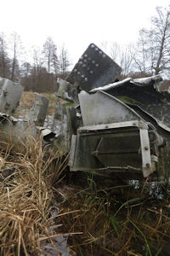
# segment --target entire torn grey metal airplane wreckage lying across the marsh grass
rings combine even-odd
[[[90,44],[68,77],[58,79],[52,127],[43,127],[48,100],[35,94],[26,119],[11,114],[23,87],[0,79],[1,129],[14,137],[36,137],[70,152],[71,172],[110,173],[127,179],[169,178],[170,94],[160,75],[118,81],[115,61]]]

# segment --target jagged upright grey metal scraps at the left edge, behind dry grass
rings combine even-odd
[[[46,136],[52,131],[43,127],[48,110],[48,99],[37,93],[30,111],[23,119],[12,116],[19,105],[24,87],[9,79],[0,78],[0,122],[3,135],[12,137],[15,141],[25,140],[26,137],[37,137],[42,131],[44,143]]]

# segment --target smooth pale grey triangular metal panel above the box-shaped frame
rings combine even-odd
[[[101,125],[141,119],[138,113],[104,91],[79,94],[83,125]]]

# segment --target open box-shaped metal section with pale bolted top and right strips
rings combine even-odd
[[[148,177],[156,169],[159,136],[150,124],[138,120],[86,126],[72,137],[69,166],[72,172],[124,173]],[[150,155],[150,152],[152,154]],[[131,172],[130,172],[131,171]]]

